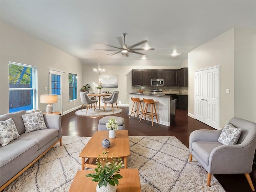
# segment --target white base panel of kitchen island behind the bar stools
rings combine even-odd
[[[158,95],[140,94],[140,93],[129,93],[129,94],[130,94],[129,115],[132,112],[132,105],[133,105],[131,97],[140,98],[140,100],[143,100],[143,98],[153,99],[155,102],[157,102],[155,106],[156,106],[156,114],[158,117],[159,124],[170,126],[170,97],[169,96],[158,96]],[[144,102],[142,102],[141,104],[144,109],[146,104],[144,104]],[[133,110],[135,110],[135,105]],[[151,112],[150,106],[148,106],[148,112]],[[141,116],[142,115],[140,115],[140,118]],[[138,121],[140,120],[140,118],[138,118]],[[144,120],[144,117],[143,117],[143,120]],[[151,118],[146,118],[146,120],[151,121]],[[153,118],[153,122],[157,123],[156,117]]]

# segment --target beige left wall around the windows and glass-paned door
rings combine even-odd
[[[78,87],[82,86],[82,65],[80,60],[62,52],[49,44],[24,33],[1,21],[0,31],[0,114],[9,112],[8,64],[17,62],[36,66],[38,69],[38,96],[48,94],[48,68],[64,71],[63,74],[63,111],[69,111],[81,104],[79,100],[68,102],[68,73],[77,74]],[[46,104],[38,108],[46,109]],[[78,102],[79,101],[79,102]]]

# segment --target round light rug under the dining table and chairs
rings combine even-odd
[[[95,112],[93,108],[88,109],[88,112],[86,113],[86,109],[82,109],[82,110],[77,110],[75,112],[76,115],[80,115],[80,116],[106,116],[106,115],[113,115],[113,114],[118,114],[120,112],[122,112],[122,109],[118,108],[114,108],[114,112],[112,111],[111,108],[106,108],[105,112],[103,110],[103,106],[100,106],[101,108],[95,108]]]

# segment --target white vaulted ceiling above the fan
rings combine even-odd
[[[188,52],[234,27],[256,28],[256,0],[0,0],[1,20],[82,64],[179,66]],[[148,40],[155,50],[123,57],[96,49]],[[136,48],[142,48],[143,45]],[[173,58],[176,49],[182,55]]]

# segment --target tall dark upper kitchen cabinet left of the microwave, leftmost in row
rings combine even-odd
[[[132,70],[132,86],[151,86],[151,70]]]

